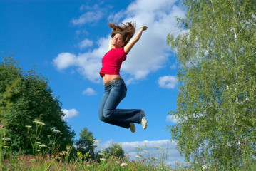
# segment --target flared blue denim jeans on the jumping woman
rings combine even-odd
[[[140,123],[142,110],[116,109],[118,104],[126,97],[126,84],[118,81],[105,88],[101,104],[98,109],[98,118],[106,123],[129,128],[129,123]]]

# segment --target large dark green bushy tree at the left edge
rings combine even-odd
[[[36,125],[33,124],[35,119],[46,125],[41,128],[39,142],[46,144],[48,135],[52,133],[50,128],[55,128],[63,133],[58,141],[58,150],[64,150],[66,145],[73,145],[74,133],[63,120],[61,103],[53,96],[46,78],[34,70],[22,72],[13,58],[4,56],[0,63],[0,99],[6,86],[16,80],[19,80],[19,83],[14,86],[11,96],[8,97],[12,105],[0,104],[1,110],[4,111],[1,113],[0,123],[5,123],[6,136],[11,138],[7,145],[11,150],[33,153],[26,125],[32,125],[31,136],[36,136]]]

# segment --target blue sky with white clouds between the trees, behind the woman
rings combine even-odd
[[[87,127],[99,140],[98,148],[121,142],[133,156],[135,147],[168,147],[169,160],[182,160],[170,142],[167,113],[176,107],[178,65],[166,45],[177,31],[175,16],[184,16],[175,0],[1,0],[0,51],[11,53],[23,71],[36,66],[48,78],[61,101],[65,120],[78,133]],[[136,132],[98,120],[103,82],[98,74],[108,51],[111,28],[107,23],[135,21],[148,26],[121,67],[128,93],[118,108],[145,110],[148,128]],[[156,153],[154,153],[156,154]]]

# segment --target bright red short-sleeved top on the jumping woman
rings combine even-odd
[[[123,61],[126,61],[126,53],[123,48],[111,48],[102,58],[101,77],[104,74],[120,75],[120,68]]]

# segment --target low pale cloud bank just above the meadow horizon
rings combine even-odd
[[[99,142],[96,150],[105,150],[107,147],[111,146],[112,143],[114,143],[112,140],[103,143]],[[168,162],[169,165],[173,162],[182,162],[184,160],[184,158],[180,156],[180,152],[176,150],[175,142],[171,142],[170,140],[122,142],[121,145],[125,153],[130,155],[130,160],[135,160],[135,156],[138,155],[138,153],[145,157],[150,155],[151,157],[158,158],[160,158],[159,155],[167,154],[168,158],[166,162]],[[161,149],[159,147],[161,147]],[[142,150],[138,151],[138,148]],[[162,150],[161,153],[159,150]]]

